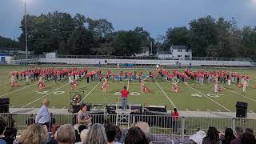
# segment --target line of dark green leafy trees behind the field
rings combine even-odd
[[[130,56],[153,43],[153,54],[171,45],[184,45],[194,57],[246,57],[256,59],[256,26],[239,28],[234,18],[214,19],[210,15],[194,19],[189,26],[170,27],[166,34],[151,38],[143,27],[114,30],[106,19],[87,18],[83,14],[55,11],[26,15],[29,50],[34,54],[56,51],[58,54],[101,54]],[[24,18],[19,46],[25,47]]]

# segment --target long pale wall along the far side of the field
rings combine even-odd
[[[38,62],[43,63],[66,63],[66,64],[89,64],[98,65],[101,64],[143,64],[143,65],[157,65],[161,66],[177,66],[177,60],[162,60],[162,59],[90,59],[90,58],[39,58]],[[239,61],[192,61],[192,60],[178,60],[182,63],[182,66],[189,66],[190,62],[192,66],[253,66],[250,62]]]

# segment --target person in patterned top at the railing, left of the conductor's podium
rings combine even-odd
[[[82,104],[78,112],[78,125],[91,126],[91,118],[87,114],[87,106]]]

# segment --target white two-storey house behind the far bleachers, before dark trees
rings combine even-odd
[[[165,59],[191,59],[192,58],[192,50],[186,46],[170,46],[170,50],[167,51],[159,51],[158,58]]]

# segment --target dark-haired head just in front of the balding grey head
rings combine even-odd
[[[125,139],[125,144],[148,144],[145,134],[138,127],[131,127]]]

